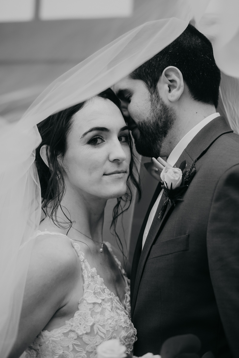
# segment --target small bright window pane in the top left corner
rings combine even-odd
[[[32,21],[35,0],[0,0],[0,22]]]

